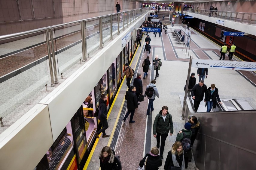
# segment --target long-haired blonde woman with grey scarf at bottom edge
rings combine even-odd
[[[172,145],[172,150],[168,152],[164,168],[165,170],[184,170],[185,161],[181,142],[175,142]]]

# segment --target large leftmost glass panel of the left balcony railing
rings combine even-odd
[[[35,96],[47,95],[45,84],[51,84],[45,34],[1,44],[1,51],[3,47],[16,53],[0,58],[0,117],[14,123],[39,102]]]

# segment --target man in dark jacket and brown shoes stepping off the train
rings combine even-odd
[[[107,115],[108,115],[108,109],[107,109],[107,95],[101,95],[99,99],[99,117],[98,119],[100,120],[102,124],[102,128],[96,132],[96,137],[99,138],[99,134],[102,132],[102,137],[109,137],[109,135],[106,135],[105,130],[108,128],[108,120],[107,120]]]

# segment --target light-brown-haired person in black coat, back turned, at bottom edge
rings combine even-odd
[[[145,169],[158,170],[158,167],[163,164],[160,155],[158,154],[159,150],[157,147],[152,148],[151,151],[139,162],[139,166],[142,167],[147,159]]]

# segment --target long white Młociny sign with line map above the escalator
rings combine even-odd
[[[256,62],[192,59],[191,67],[256,71]]]

